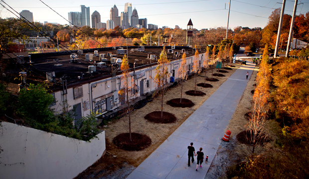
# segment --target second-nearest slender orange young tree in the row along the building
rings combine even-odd
[[[168,83],[168,65],[169,60],[166,56],[165,46],[163,47],[163,50],[160,54],[160,58],[157,61],[158,66],[155,69],[156,75],[154,77],[154,83],[156,84],[156,87],[158,89],[158,92],[161,94],[161,117],[163,117],[163,95],[167,89],[167,83]]]

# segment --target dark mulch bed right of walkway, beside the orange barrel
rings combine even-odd
[[[252,145],[253,142],[250,140],[251,135],[253,135],[253,133],[247,130],[244,130],[236,135],[236,139],[238,142],[242,144]],[[257,136],[258,137],[257,137],[257,140],[255,141],[255,144],[264,145],[265,143],[270,142],[270,138],[267,137],[265,133],[258,133]]]

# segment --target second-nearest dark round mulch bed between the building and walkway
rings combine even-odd
[[[154,111],[147,114],[145,117],[150,122],[168,124],[173,123],[177,120],[174,114],[163,111],[163,116],[161,117],[161,111]]]

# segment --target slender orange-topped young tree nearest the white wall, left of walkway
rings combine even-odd
[[[129,138],[130,141],[132,141],[131,137],[131,111],[133,110],[133,102],[136,97],[136,92],[135,92],[135,86],[134,84],[134,79],[131,77],[130,72],[129,72],[129,63],[128,63],[128,58],[125,55],[122,63],[121,63],[121,70],[122,70],[122,90],[119,90],[119,96],[124,96],[122,101],[125,102],[126,104],[126,110],[125,113],[128,114],[129,117]],[[125,94],[125,95],[124,95]]]

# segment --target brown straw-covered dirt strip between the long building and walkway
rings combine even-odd
[[[163,98],[163,110],[175,115],[177,120],[174,123],[153,123],[144,118],[150,112],[161,110],[160,96],[154,98],[153,101],[147,103],[143,108],[134,110],[131,113],[132,132],[145,134],[149,136],[152,140],[151,146],[144,150],[125,151],[115,146],[115,144],[109,142],[112,141],[117,135],[129,132],[128,116],[123,116],[122,118],[114,118],[112,121],[108,122],[106,126],[102,128],[102,130],[105,131],[106,136],[106,150],[114,155],[117,155],[117,158],[111,157],[110,161],[99,160],[101,161],[100,164],[97,165],[97,167],[89,167],[87,170],[85,170],[82,173],[82,175],[84,176],[82,178],[87,178],[86,176],[94,176],[89,177],[89,179],[126,178],[132,172],[132,170],[134,170],[135,167],[139,166],[150,154],[152,154],[160,144],[162,144],[206,99],[208,99],[208,97],[211,96],[211,94],[213,94],[213,92],[218,89],[221,84],[224,83],[226,79],[228,79],[235,72],[235,70],[237,70],[239,66],[241,66],[241,64],[235,64],[235,66],[236,67],[233,68],[233,70],[228,73],[226,77],[218,77],[214,80],[215,82],[208,81],[208,83],[212,85],[213,88],[196,87],[196,89],[205,92],[206,95],[190,96],[183,93],[183,98],[194,101],[195,105],[193,107],[182,108],[166,105],[166,102],[168,100],[174,99],[175,97],[177,97],[177,95],[178,97],[180,97],[181,86],[175,86],[174,88],[168,89],[164,94]],[[203,76],[204,75],[205,74],[203,73]],[[207,71],[206,76],[211,77],[210,70]],[[204,83],[204,81],[204,77],[197,77],[197,84]],[[183,83],[183,91],[194,88],[194,85],[194,78],[187,79]],[[102,158],[106,159],[106,156],[107,154],[104,155]],[[103,171],[105,171],[105,173]]]

